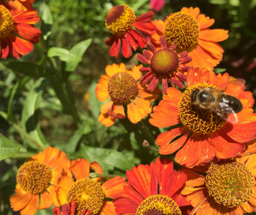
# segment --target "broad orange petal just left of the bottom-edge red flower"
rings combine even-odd
[[[112,199],[116,199],[121,196],[124,192],[124,186],[128,186],[128,183],[125,180],[126,179],[124,177],[116,176],[102,184],[101,187],[104,190],[106,198],[110,197]]]

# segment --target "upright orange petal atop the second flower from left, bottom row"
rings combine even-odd
[[[70,170],[72,171],[76,180],[79,180],[81,178],[89,178],[90,163],[86,160],[86,158],[71,161]]]

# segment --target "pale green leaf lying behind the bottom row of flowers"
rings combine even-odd
[[[123,151],[121,153],[110,148],[96,148],[83,145],[78,155],[88,159],[90,162],[98,162],[106,171],[113,170],[114,167],[122,171],[127,171],[136,163],[133,152],[128,153],[128,151]]]

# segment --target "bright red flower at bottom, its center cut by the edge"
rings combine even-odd
[[[173,170],[173,161],[157,158],[155,163],[133,167],[127,171],[129,186],[114,199],[117,214],[180,214],[183,206],[190,205],[180,195],[186,183],[184,173]]]

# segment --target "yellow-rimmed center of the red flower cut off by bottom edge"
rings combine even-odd
[[[142,201],[136,215],[181,215],[178,204],[168,196],[153,195]]]

